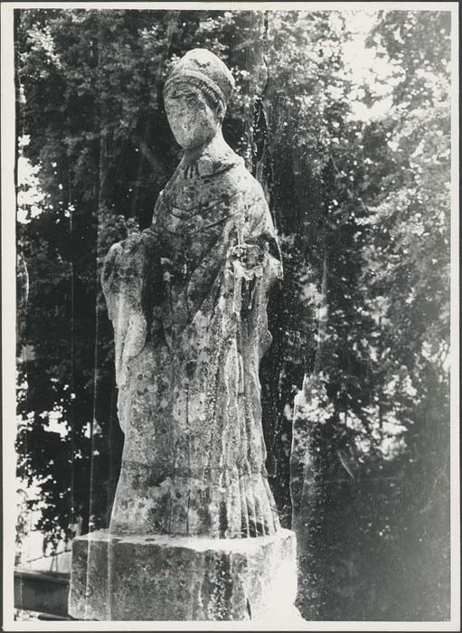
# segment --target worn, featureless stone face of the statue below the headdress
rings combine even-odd
[[[203,91],[180,83],[164,95],[168,123],[176,142],[184,149],[205,145],[216,135],[221,122]]]

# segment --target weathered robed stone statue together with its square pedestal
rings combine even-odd
[[[183,159],[152,225],[105,260],[125,444],[109,529],[72,542],[73,618],[298,617],[259,397],[280,255],[262,189],[222,137],[232,87],[212,52],[174,66],[165,109]]]

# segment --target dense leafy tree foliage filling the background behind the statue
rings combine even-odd
[[[283,255],[260,379],[297,606],[448,619],[450,14],[14,13],[17,468],[46,543],[108,524],[123,435],[99,271],[179,160],[162,88],[200,46],[237,80],[224,134]]]

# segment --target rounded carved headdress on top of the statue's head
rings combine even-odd
[[[187,82],[197,86],[214,102],[222,102],[223,109],[226,109],[234,88],[234,78],[226,64],[211,51],[203,48],[194,48],[186,52],[174,65],[165,81],[164,91],[176,82]]]

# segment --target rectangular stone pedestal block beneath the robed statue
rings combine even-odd
[[[115,535],[72,545],[69,613],[97,620],[266,620],[297,617],[296,539]]]

